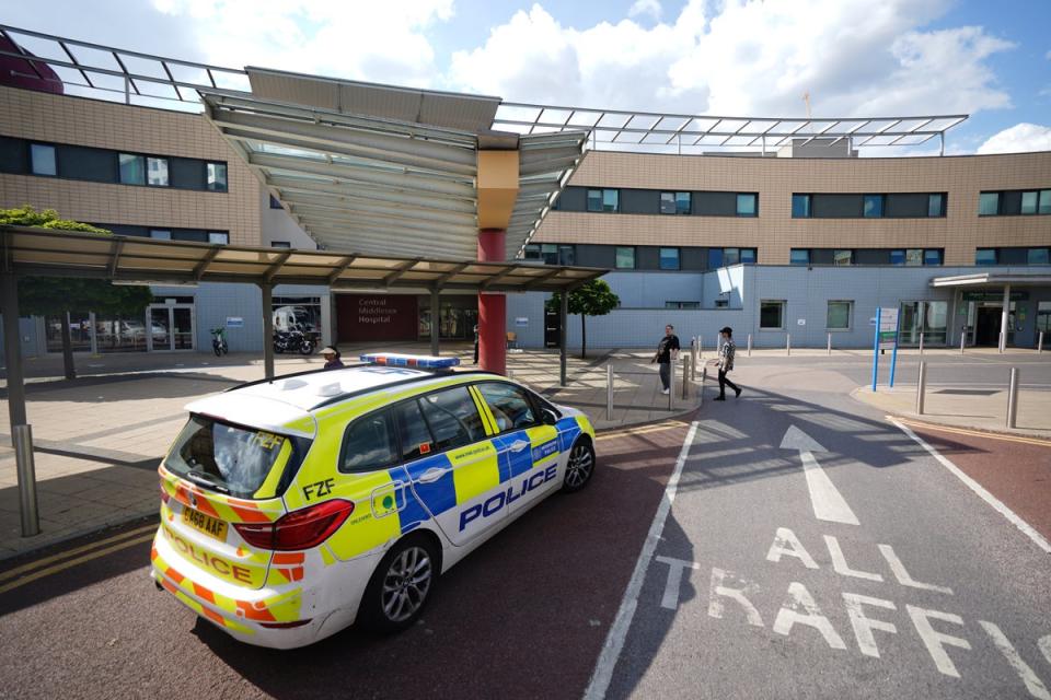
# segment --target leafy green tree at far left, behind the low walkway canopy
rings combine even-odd
[[[109,231],[91,224],[59,219],[54,209],[35,211],[30,206],[0,209],[0,225],[2,224],[113,235]],[[146,311],[152,301],[153,293],[149,287],[116,287],[109,280],[102,279],[27,277],[19,282],[19,305],[22,313],[27,316],[58,316],[61,320],[62,363],[67,380],[77,377],[69,334],[70,311],[90,308],[105,314],[135,315]]]

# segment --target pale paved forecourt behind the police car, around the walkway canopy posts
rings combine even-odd
[[[340,347],[353,358],[370,346]],[[401,343],[401,352],[429,352],[429,346]],[[464,366],[471,343],[448,343]],[[508,354],[509,373],[552,400],[580,408],[596,428],[609,430],[689,411],[695,396],[660,394],[649,355],[570,357],[568,385],[558,385],[558,355],[522,351]],[[314,357],[278,355],[278,374],[317,368]],[[615,410],[605,413],[605,365],[616,372]],[[14,451],[7,434],[8,405],[0,404],[0,559],[119,525],[157,512],[157,467],[186,420],[184,406],[242,382],[262,378],[262,362],[246,354],[221,359],[201,353],[101,355],[77,358],[78,378],[62,377],[61,358],[44,358],[28,371],[26,384],[33,428],[37,502],[42,533],[21,536]],[[680,385],[681,392],[681,385]],[[0,395],[4,395],[0,392]]]

